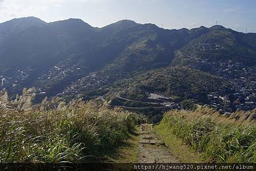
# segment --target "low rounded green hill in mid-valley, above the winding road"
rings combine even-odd
[[[192,98],[196,94],[204,94],[220,89],[224,90],[228,85],[228,82],[225,82],[223,78],[201,72],[200,70],[180,66],[168,66],[151,70],[134,77],[131,81],[127,80],[127,82],[129,82],[130,88],[125,88],[126,92],[123,94],[126,97],[131,95],[139,96],[146,91],[160,91],[169,95]]]

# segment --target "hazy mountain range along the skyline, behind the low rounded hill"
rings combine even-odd
[[[56,95],[85,84],[94,72],[108,78],[98,83],[106,87],[166,66],[191,66],[194,59],[255,66],[256,34],[222,26],[165,30],[131,20],[102,28],[81,19],[46,23],[34,17],[0,24],[0,89],[10,94],[35,86]]]

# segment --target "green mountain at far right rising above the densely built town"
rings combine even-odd
[[[184,63],[191,56],[196,56],[201,59],[225,59],[242,62],[246,65],[255,65],[255,34],[243,34],[223,26],[213,26],[203,30],[205,30],[204,34],[189,41],[187,45],[180,49],[183,53],[180,63]],[[217,44],[223,49],[203,50],[200,48],[200,43]]]

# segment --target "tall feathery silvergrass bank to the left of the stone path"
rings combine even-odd
[[[90,162],[129,137],[137,115],[93,102],[64,111],[0,109],[0,162]]]

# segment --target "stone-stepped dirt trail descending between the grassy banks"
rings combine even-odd
[[[171,155],[163,139],[155,134],[152,124],[142,124],[139,136],[138,163],[180,162]]]

